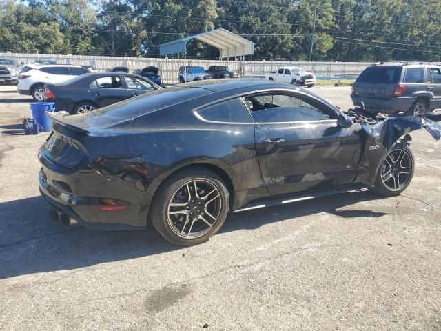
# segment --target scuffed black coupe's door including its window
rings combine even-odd
[[[256,154],[270,194],[353,182],[360,138],[338,125],[336,110],[301,92],[257,94],[245,97],[245,102],[254,120]]]

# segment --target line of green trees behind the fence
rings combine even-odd
[[[314,15],[315,12],[315,15]],[[440,0],[0,0],[0,51],[158,57],[158,45],[225,28],[254,59],[441,61]],[[188,58],[215,59],[192,41]]]

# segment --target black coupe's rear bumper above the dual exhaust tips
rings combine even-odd
[[[95,187],[100,187],[100,192],[103,194],[112,195],[111,192],[118,190],[118,186],[126,185],[127,183],[114,182],[107,179],[105,179],[107,181],[105,185],[98,182],[90,182],[87,185],[90,188],[90,194],[88,194],[90,196],[85,197],[68,192],[72,191],[69,184],[71,183],[72,185],[75,181],[78,183],[79,176],[81,177],[79,173],[61,175],[43,167],[39,172],[40,193],[53,209],[65,212],[70,219],[74,219],[86,228],[94,230],[134,230],[145,228],[147,213],[143,212],[143,208],[140,208],[139,205],[124,201],[127,202],[127,209],[125,210],[101,210],[99,207],[103,205],[101,203],[102,199],[118,199],[121,201],[121,198],[108,196],[101,198],[93,195]],[[83,181],[89,181],[94,176],[102,177],[100,174],[90,172],[85,174],[86,178]],[[63,179],[65,180],[63,181]],[[132,185],[133,183],[130,184]]]

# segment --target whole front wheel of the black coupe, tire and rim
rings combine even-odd
[[[392,146],[378,170],[373,191],[386,197],[394,197],[411,183],[415,159],[407,143]]]

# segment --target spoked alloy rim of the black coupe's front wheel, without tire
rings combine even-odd
[[[391,191],[399,191],[409,183],[412,161],[409,152],[397,148],[387,154],[381,165],[381,180]]]

